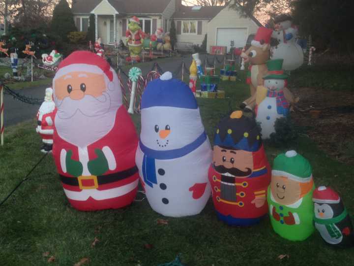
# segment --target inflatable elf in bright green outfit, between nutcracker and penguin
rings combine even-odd
[[[303,156],[288,151],[274,159],[267,202],[276,233],[289,240],[301,241],[314,232],[314,189],[312,168]]]

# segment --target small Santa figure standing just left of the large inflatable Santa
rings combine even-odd
[[[54,116],[56,113],[55,103],[53,101],[53,90],[47,88],[45,98],[37,112],[36,132],[42,137],[43,146],[41,152],[48,153],[53,148]]]

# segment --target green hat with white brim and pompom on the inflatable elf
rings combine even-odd
[[[297,182],[307,183],[312,179],[312,167],[300,154],[287,151],[274,159],[272,175],[285,176]]]

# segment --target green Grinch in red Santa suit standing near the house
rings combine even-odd
[[[139,19],[134,16],[129,19],[128,30],[125,33],[126,43],[129,47],[130,58],[127,60],[140,61],[140,54],[142,51],[143,40],[145,33],[142,31]]]

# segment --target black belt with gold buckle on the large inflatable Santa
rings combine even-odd
[[[79,186],[80,189],[93,189],[97,188],[98,185],[104,185],[104,184],[109,184],[112,182],[116,182],[119,180],[123,180],[125,178],[128,178],[138,172],[138,167],[133,166],[129,169],[126,169],[124,171],[116,172],[116,173],[111,173],[111,174],[106,174],[106,175],[89,175],[89,176],[79,176],[79,177],[68,177],[59,174],[61,182],[63,182],[66,185],[70,186]],[[83,186],[82,185],[82,180],[93,180],[94,185],[93,186]]]

